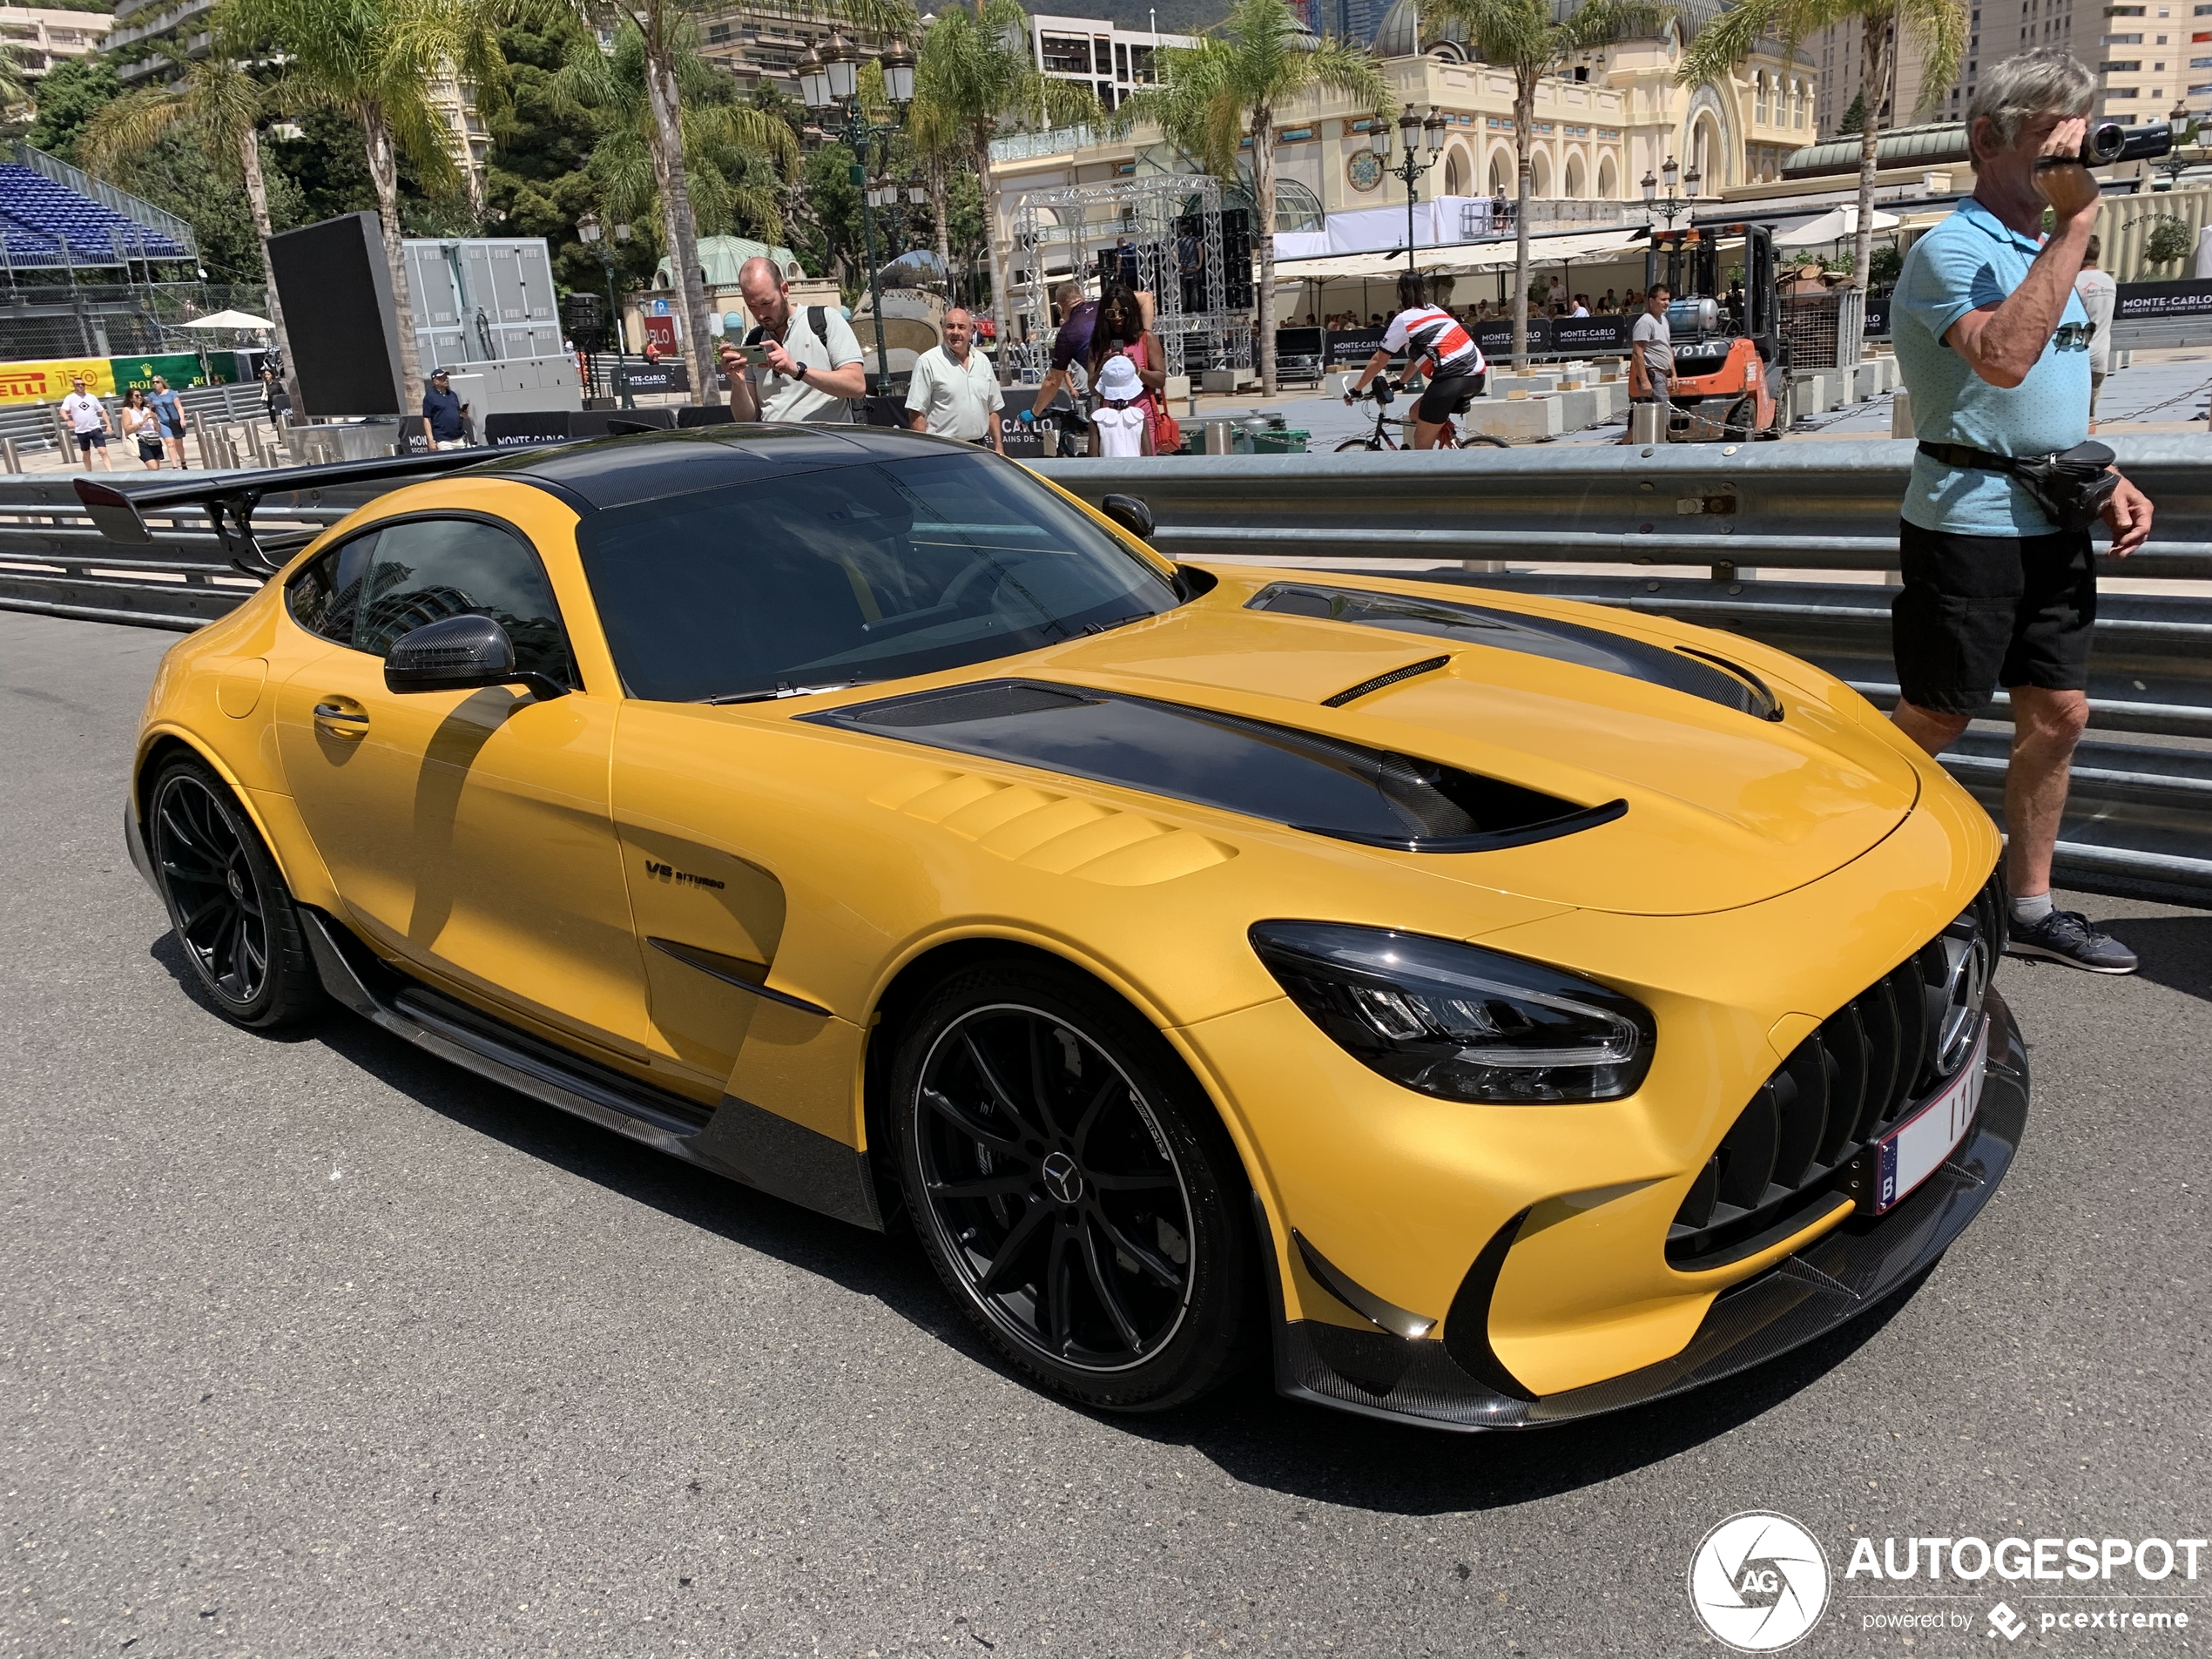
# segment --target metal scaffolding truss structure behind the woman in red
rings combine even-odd
[[[1152,294],[1152,332],[1168,374],[1252,367],[1252,319],[1228,305],[1221,184],[1212,175],[1152,173],[1022,197],[1013,257],[1029,261],[1029,279],[1018,285],[1026,330],[1004,347],[1022,369],[1042,374],[1051,361],[1053,285],[1044,272],[1062,248],[1077,281],[1088,281],[1102,252],[1124,268],[1135,261],[1137,288]]]

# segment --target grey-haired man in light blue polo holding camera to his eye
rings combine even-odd
[[[2079,164],[2095,77],[2031,51],[1982,77],[1966,108],[1973,197],[1905,261],[1891,332],[1920,453],[1898,526],[1905,591],[1891,608],[1896,723],[1942,754],[2011,695],[2004,779],[2013,953],[2132,973],[2135,953],[2051,905],[2051,852],[2088,723],[2097,575],[2150,535],[2150,500],[2088,442],[2088,314],[2075,274],[2097,219]],[[2042,234],[2044,208],[2057,228]]]

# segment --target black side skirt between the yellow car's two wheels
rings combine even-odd
[[[595,1066],[394,973],[349,929],[312,905],[301,905],[299,916],[323,989],[372,1024],[657,1152],[883,1232],[867,1152],[737,1095],[703,1108]]]

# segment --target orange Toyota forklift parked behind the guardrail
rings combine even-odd
[[[1723,254],[1741,252],[1743,283],[1725,288]],[[1734,259],[1730,259],[1734,263]],[[1668,442],[1781,438],[1781,305],[1774,292],[1774,232],[1717,223],[1652,230],[1644,250],[1644,292],[1668,290],[1674,343],[1674,407]],[[1628,354],[1628,394],[1650,396],[1644,365]]]

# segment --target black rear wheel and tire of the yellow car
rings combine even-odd
[[[199,989],[232,1024],[276,1031],[323,1004],[276,860],[201,761],[170,761],[146,796],[146,852]]]

